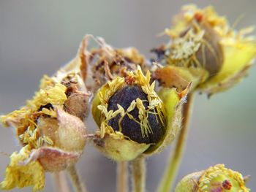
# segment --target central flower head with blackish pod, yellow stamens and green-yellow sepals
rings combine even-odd
[[[154,82],[150,85],[150,73],[144,76],[140,67],[127,78],[116,77],[102,86],[92,102],[92,115],[100,128],[96,147],[116,161],[129,161],[140,153],[157,153],[173,140],[178,131],[173,119],[180,117],[183,96],[174,89],[162,92],[171,95],[166,99],[170,108],[154,91]]]

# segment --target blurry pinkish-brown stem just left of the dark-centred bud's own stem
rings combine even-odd
[[[128,163],[127,161],[120,161],[117,163],[116,170],[116,191],[128,191]]]

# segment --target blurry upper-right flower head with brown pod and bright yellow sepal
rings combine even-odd
[[[256,41],[246,34],[252,27],[234,31],[213,7],[183,7],[165,34],[167,45],[154,49],[159,55],[154,76],[164,87],[192,90],[208,96],[225,91],[246,75],[256,57]]]

